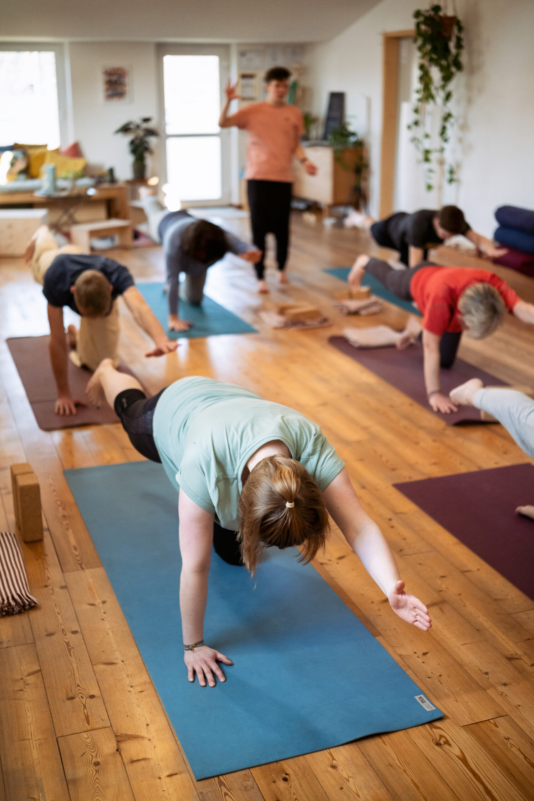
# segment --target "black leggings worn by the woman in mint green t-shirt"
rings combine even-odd
[[[163,392],[165,388],[157,395],[147,398],[141,389],[123,389],[114,401],[115,414],[135,450],[146,459],[158,461],[160,464],[161,458],[155,446],[152,426],[155,408]],[[213,547],[215,553],[228,565],[243,565],[237,532],[223,529],[216,521],[213,523]]]

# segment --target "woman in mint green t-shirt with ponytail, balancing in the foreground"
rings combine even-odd
[[[179,491],[180,610],[192,682],[225,681],[225,654],[203,642],[211,546],[254,572],[263,548],[299,545],[310,562],[327,539],[328,513],[406,622],[427,631],[428,610],[404,592],[395,557],[359,503],[343,461],[319,426],[287,406],[211,378],[189,376],[148,398],[132,376],[102,361],[87,385],[102,390],[143,456],[163,463]]]

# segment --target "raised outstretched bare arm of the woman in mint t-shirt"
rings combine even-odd
[[[432,622],[419,598],[404,592],[395,557],[378,525],[363,509],[343,468],[323,490],[324,502],[333,521],[343,532],[367,573],[387,596],[391,609],[408,623],[428,631]]]

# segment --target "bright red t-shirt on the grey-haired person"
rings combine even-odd
[[[506,281],[489,270],[468,267],[424,267],[418,270],[410,281],[410,292],[423,315],[425,331],[436,336],[462,331],[458,300],[468,287],[481,283],[496,288],[509,312],[521,300]]]

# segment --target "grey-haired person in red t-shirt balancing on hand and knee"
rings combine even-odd
[[[495,331],[508,312],[534,324],[534,305],[521,300],[508,284],[489,270],[440,267],[422,262],[395,270],[387,261],[359,256],[348,276],[351,288],[364,274],[375,276],[400,300],[411,300],[423,315],[409,317],[397,348],[407,348],[423,329],[424,383],[435,412],[456,412],[455,402],[440,392],[440,368],[452,367],[462,332],[481,340]]]

